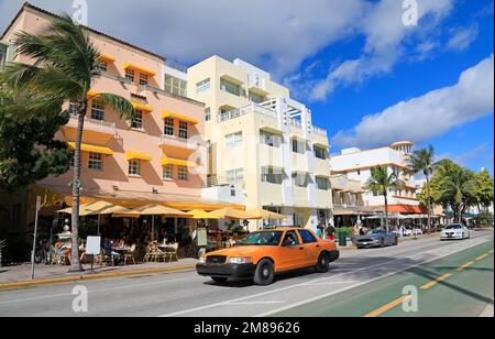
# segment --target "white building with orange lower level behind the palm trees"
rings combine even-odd
[[[360,181],[364,186],[371,178],[371,168],[386,166],[389,173],[396,172],[406,183],[403,189],[388,193],[388,206],[391,212],[422,214],[425,209],[417,199],[417,183],[411,176],[406,176],[404,170],[407,166],[407,156],[414,144],[408,141],[396,142],[389,146],[360,150],[358,147],[342,150],[341,154],[330,157],[332,174],[346,175],[350,179]],[[385,198],[381,193],[366,193],[364,196],[366,206],[382,208]]]

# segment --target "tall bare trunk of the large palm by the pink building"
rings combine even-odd
[[[79,200],[80,200],[80,170],[81,170],[81,143],[82,131],[85,125],[85,117],[88,103],[86,101],[80,102],[77,109],[77,135],[74,150],[74,181],[73,181],[73,250],[70,258],[70,272],[82,271],[82,265],[79,260]]]

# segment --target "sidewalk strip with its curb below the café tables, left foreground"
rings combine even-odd
[[[195,269],[196,262],[196,259],[182,259],[178,262],[172,263],[97,266],[94,273],[89,271],[90,265],[84,265],[84,272],[68,273],[68,266],[40,264],[35,266],[34,281],[31,280],[31,264],[26,263],[16,266],[0,267],[0,291],[77,281],[190,271]]]

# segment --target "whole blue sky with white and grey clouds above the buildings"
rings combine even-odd
[[[415,26],[402,20],[410,2]],[[0,28],[22,3],[0,0]],[[87,3],[90,26],[186,65],[212,54],[255,64],[311,108],[332,153],[406,139],[493,173],[493,0],[32,3]]]

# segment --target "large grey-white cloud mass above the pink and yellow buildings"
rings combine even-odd
[[[22,0],[0,0],[6,26]],[[51,11],[72,0],[35,0]],[[89,25],[183,63],[213,54],[244,58],[276,76],[348,36],[364,0],[88,0]]]

